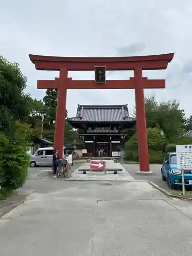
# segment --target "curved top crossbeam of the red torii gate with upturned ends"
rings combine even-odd
[[[29,54],[30,60],[37,70],[58,71],[92,71],[94,66],[106,66],[106,70],[134,70],[138,66],[142,70],[166,69],[174,53],[136,56],[136,57],[53,57]]]

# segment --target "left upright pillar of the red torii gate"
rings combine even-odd
[[[68,71],[67,69],[61,69],[59,74],[58,84],[58,96],[57,96],[57,112],[55,121],[55,138],[54,149],[58,150],[60,158],[63,156],[63,140],[65,133],[65,121],[66,121],[66,100],[67,89],[63,84],[67,83]]]

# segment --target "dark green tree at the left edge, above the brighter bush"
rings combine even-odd
[[[12,135],[15,121],[23,121],[30,112],[30,97],[24,93],[27,78],[18,63],[0,57],[0,132]]]

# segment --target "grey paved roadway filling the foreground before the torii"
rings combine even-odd
[[[66,181],[41,169],[19,189],[36,192],[0,219],[1,256],[191,255],[189,202],[147,182]]]

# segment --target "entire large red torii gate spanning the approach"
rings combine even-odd
[[[135,89],[137,138],[139,165],[141,172],[149,172],[149,157],[144,108],[144,89],[165,88],[165,79],[147,79],[142,70],[166,69],[174,53],[136,57],[53,57],[29,54],[36,70],[59,71],[55,80],[37,80],[38,89],[58,89],[55,122],[54,148],[62,157],[65,133],[67,89]],[[105,84],[95,84],[94,80],[72,80],[68,71],[94,71],[95,66],[106,66],[106,70],[134,70],[129,80],[107,80]]]

